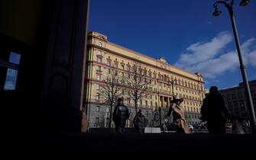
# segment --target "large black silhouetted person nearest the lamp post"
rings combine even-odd
[[[209,94],[204,98],[201,114],[201,120],[207,122],[209,133],[212,134],[225,134],[226,118],[233,119],[232,115],[228,114],[222,95],[219,94],[216,86],[212,86]]]

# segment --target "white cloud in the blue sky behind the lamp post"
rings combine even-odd
[[[241,45],[246,65],[256,66],[255,41],[255,38],[251,38]],[[230,42],[232,35],[222,32],[209,42],[194,43],[186,48],[175,65],[191,72],[201,72],[206,78],[215,78],[225,72],[234,71],[239,66],[236,50],[222,53],[222,49]]]

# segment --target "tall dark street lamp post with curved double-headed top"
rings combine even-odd
[[[248,5],[249,2],[250,2],[249,0],[242,0],[240,2],[240,5],[241,6]],[[251,113],[251,133],[256,133],[256,118],[255,118],[255,114],[254,114],[254,106],[252,104],[251,91],[250,91],[250,87],[249,87],[248,80],[247,80],[248,79],[247,74],[245,72],[245,65],[244,65],[243,59],[241,57],[241,49],[240,49],[240,43],[238,40],[238,32],[237,32],[237,29],[235,26],[235,17],[234,17],[234,12],[233,12],[234,0],[232,0],[229,3],[227,1],[215,2],[213,5],[215,8],[215,11],[212,14],[213,16],[219,16],[219,14],[222,13],[222,11],[220,11],[217,8],[219,4],[225,5],[225,7],[228,8],[228,13],[229,13],[230,19],[232,21],[232,29],[233,29],[233,34],[235,37],[236,49],[238,51],[238,59],[240,62],[241,76],[243,78],[243,82],[244,82],[244,86],[245,86],[245,93],[246,93],[246,97],[248,99],[248,106],[249,106],[249,109],[251,110],[251,112],[250,112]]]

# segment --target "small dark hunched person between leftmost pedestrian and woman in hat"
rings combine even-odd
[[[147,119],[142,114],[141,110],[138,110],[138,113],[134,117],[133,124],[138,133],[144,133],[144,129],[147,126]]]

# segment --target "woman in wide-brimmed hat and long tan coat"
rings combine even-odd
[[[182,98],[174,95],[167,116],[170,117],[173,114],[173,125],[176,133],[191,133],[184,117],[184,108],[180,105],[182,102]]]

